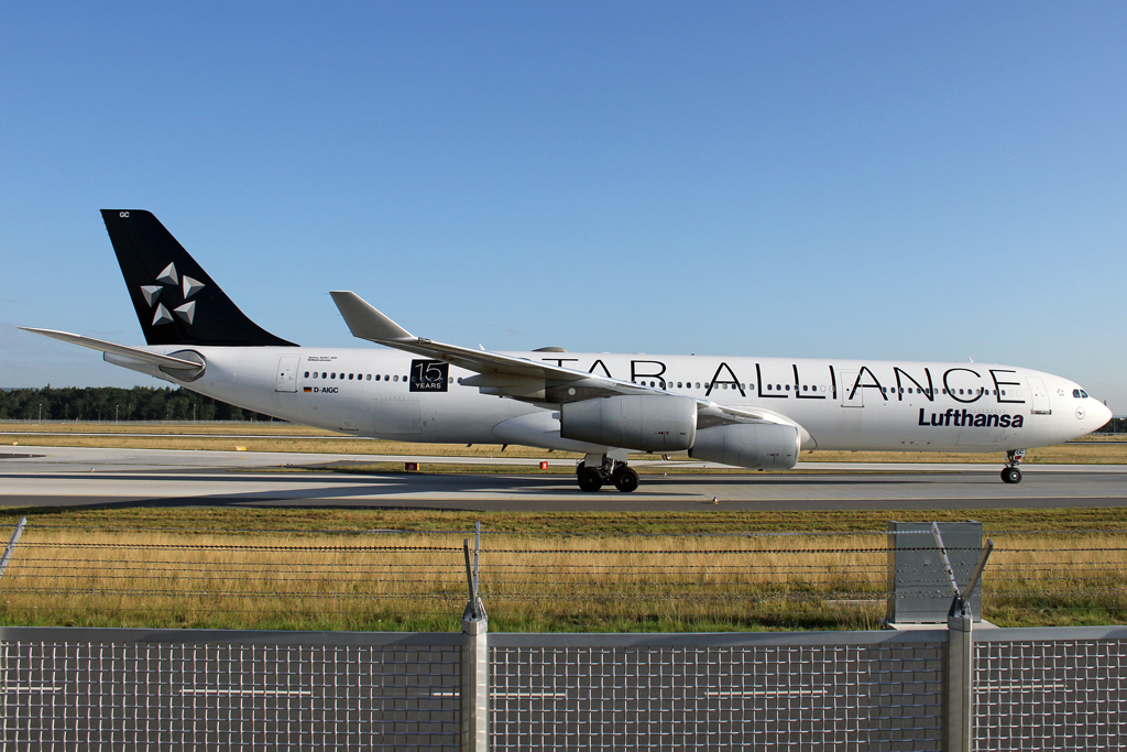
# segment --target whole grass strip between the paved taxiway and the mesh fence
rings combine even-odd
[[[481,587],[497,631],[877,628],[886,521],[968,516],[997,546],[985,577],[987,619],[1127,618],[1127,513],[1113,508],[52,508],[6,511],[0,527],[20,513],[29,525],[0,578],[8,625],[456,630],[465,602],[461,545],[481,521]]]

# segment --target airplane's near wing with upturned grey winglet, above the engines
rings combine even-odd
[[[613,395],[684,396],[550,363],[416,337],[354,292],[336,291],[329,294],[354,337],[474,371],[479,375],[463,379],[462,383],[478,387],[485,393],[547,404],[574,402]],[[778,423],[801,430],[790,418],[772,410],[735,408],[709,399],[694,399],[699,427],[730,423]]]

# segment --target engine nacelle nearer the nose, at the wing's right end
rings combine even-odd
[[[694,460],[742,468],[789,470],[798,463],[802,437],[795,426],[774,423],[735,423],[701,428],[689,450]]]

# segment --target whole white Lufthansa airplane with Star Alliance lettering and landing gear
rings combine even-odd
[[[491,352],[417,337],[331,297],[381,348],[302,347],[251,321],[150,212],[103,210],[147,345],[19,327],[114,365],[294,423],[409,442],[579,452],[585,492],[638,488],[628,453],[790,469],[802,451],[1006,453],[1076,439],[1111,412],[1068,379],[984,363]]]

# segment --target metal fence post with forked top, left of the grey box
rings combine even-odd
[[[470,602],[462,612],[462,752],[487,752],[489,749],[489,618],[478,596],[478,551],[481,546],[481,523],[476,525],[473,565],[470,565],[470,541],[462,541],[465,554],[465,580]]]

